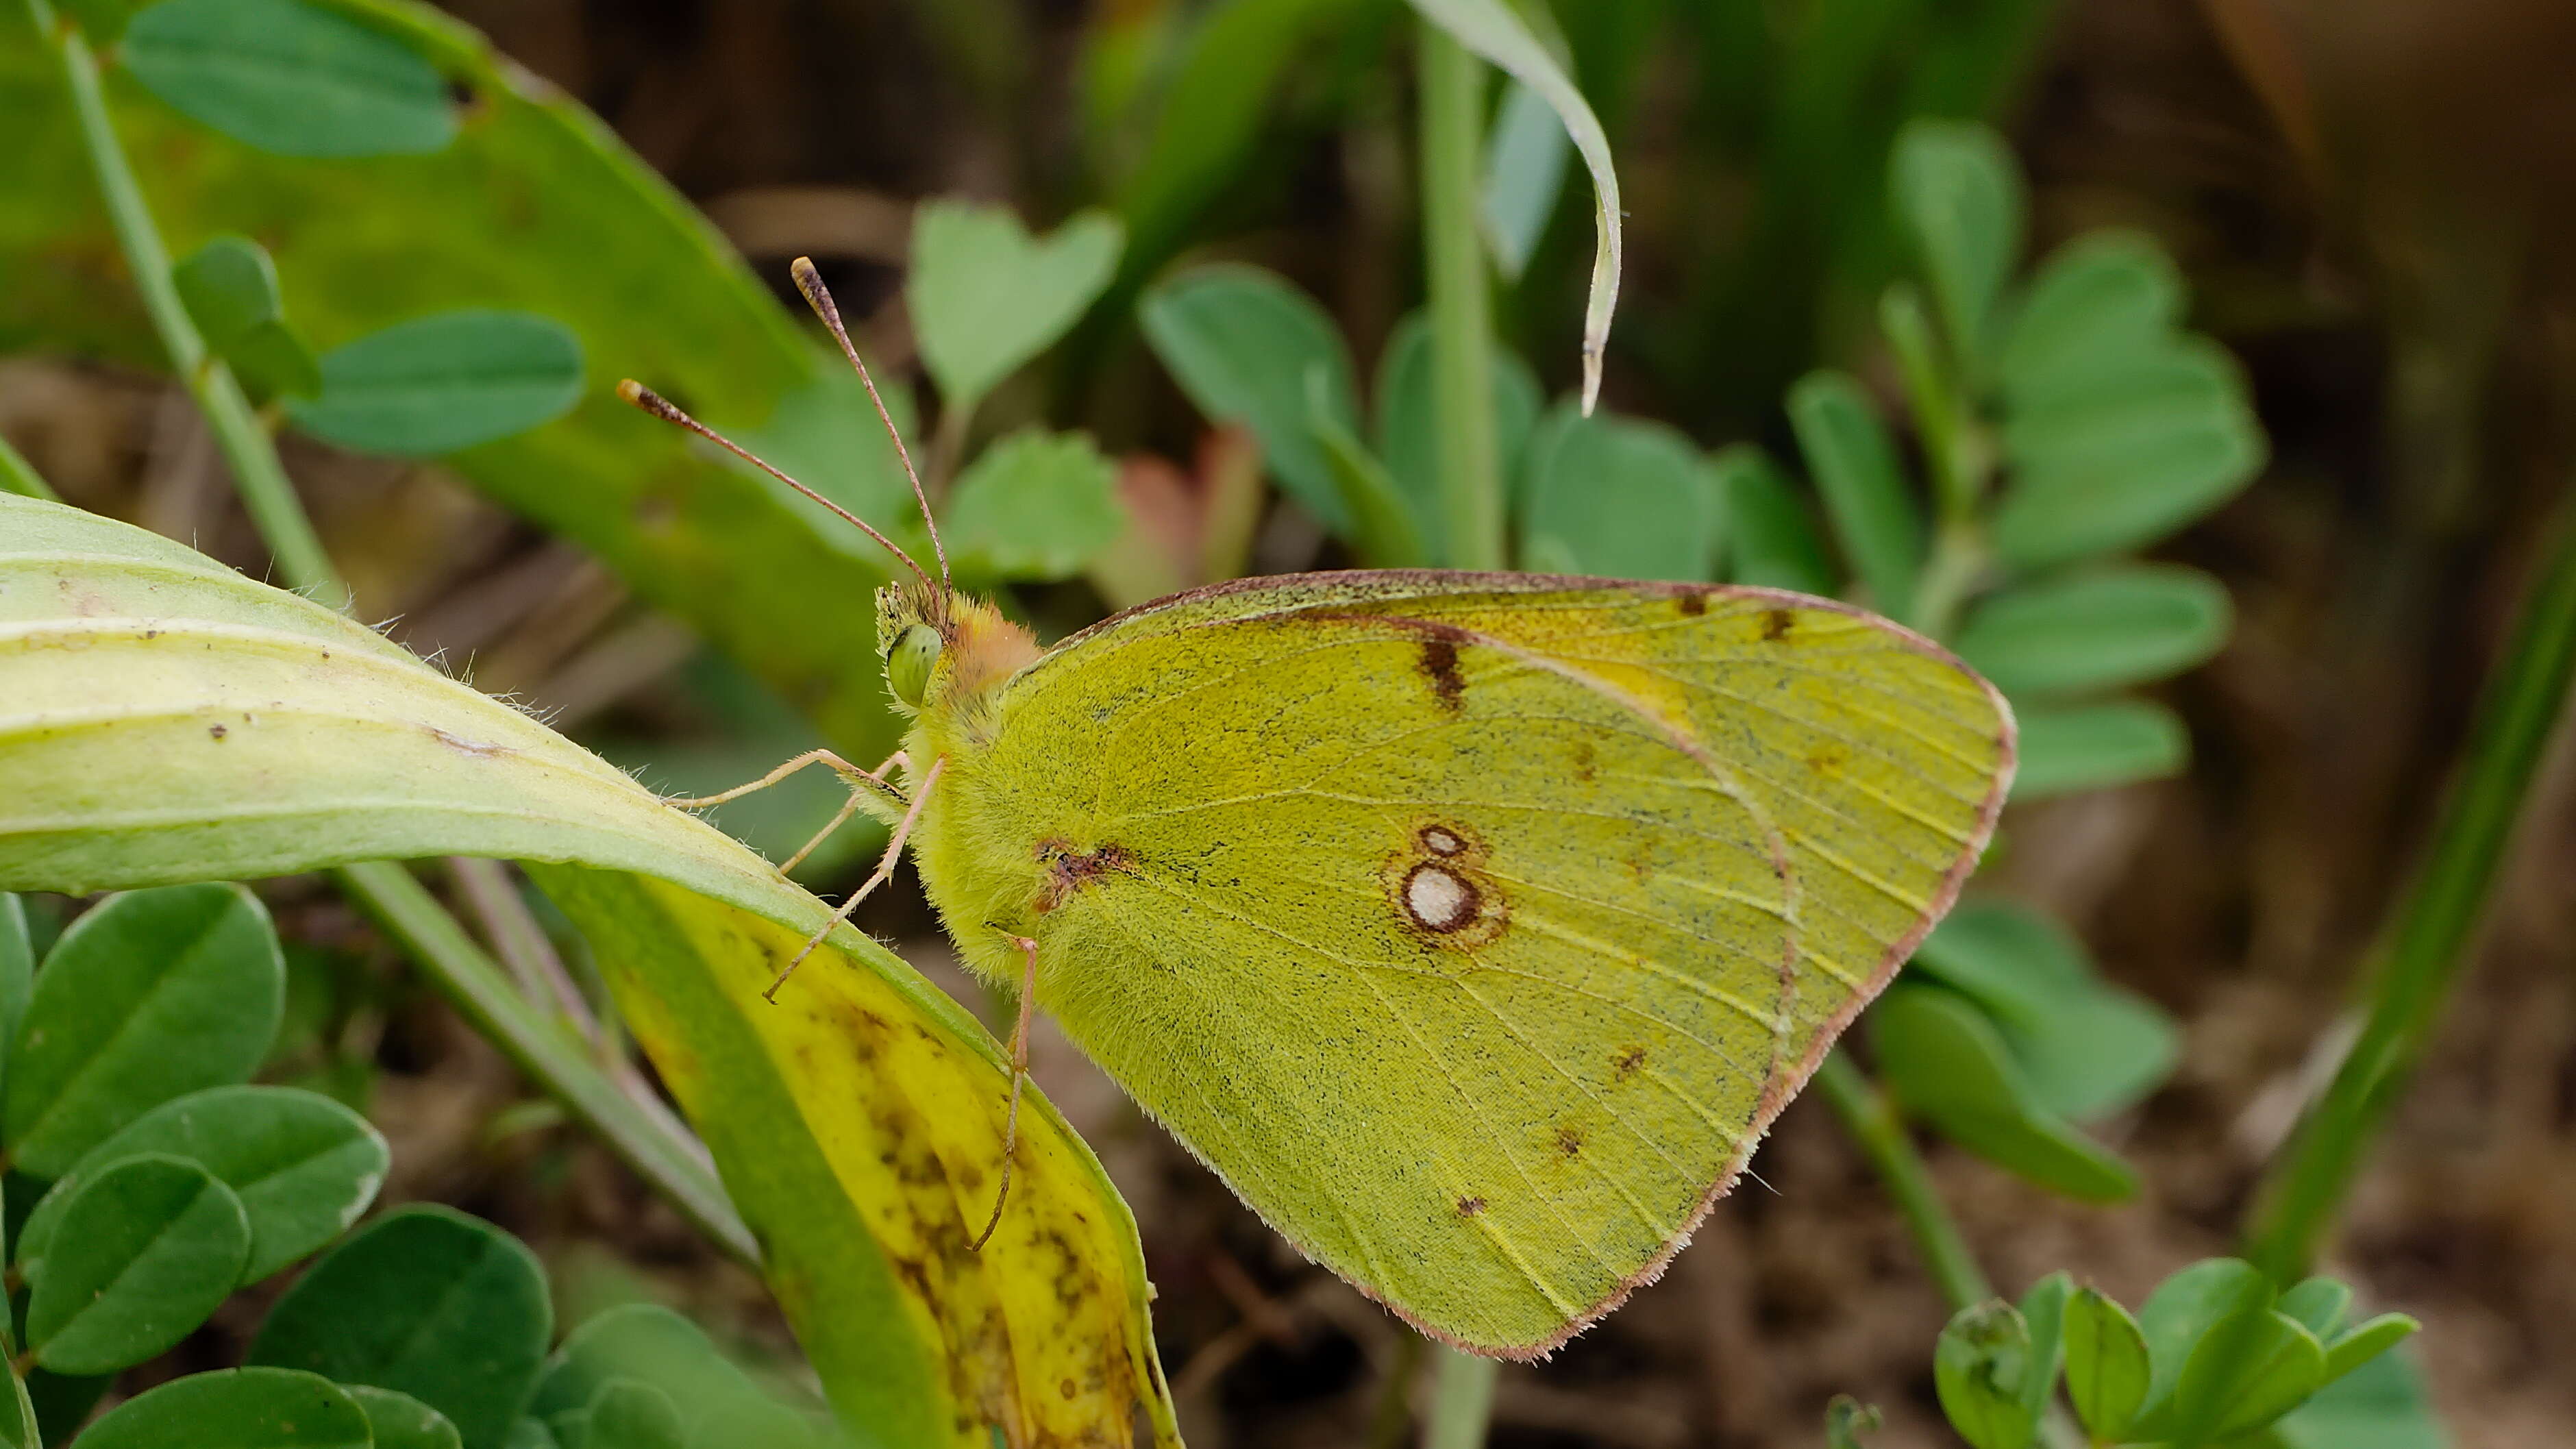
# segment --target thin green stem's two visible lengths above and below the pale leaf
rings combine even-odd
[[[260,529],[278,572],[317,598],[340,606],[348,588],[322,552],[304,505],[286,482],[278,451],[250,410],[250,400],[234,384],[232,371],[206,353],[206,340],[170,284],[170,253],[152,227],[142,188],[116,129],[108,124],[106,95],[98,88],[98,59],[88,39],[70,21],[57,21],[46,0],[28,0],[36,31],[52,41],[72,103],[80,111],[80,131],[98,173],[98,188],[108,201],[116,240],[142,289],[144,309],[160,330],[170,364],[188,382],[198,410],[224,462],[232,467],[234,487],[250,508],[250,521]],[[451,1003],[474,1021],[533,1083],[580,1116],[608,1147],[626,1160],[644,1181],[696,1222],[716,1245],[734,1258],[757,1266],[760,1245],[750,1227],[734,1214],[703,1150],[677,1129],[659,1124],[639,1104],[629,1101],[616,1083],[546,1024],[510,990],[482,946],[466,936],[438,900],[397,864],[368,861],[340,866],[332,879],[386,931],[402,941],[412,959],[438,982]]]

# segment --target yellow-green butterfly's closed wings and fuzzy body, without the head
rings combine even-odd
[[[922,853],[961,938],[1036,936],[1041,1003],[1273,1227],[1507,1356],[1662,1271],[2012,776],[2002,696],[1893,624],[1530,575],[1182,596],[979,732]]]

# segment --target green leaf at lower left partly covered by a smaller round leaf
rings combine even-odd
[[[327,1096],[268,1085],[206,1088],[155,1106],[82,1155],[28,1214],[18,1256],[44,1258],[80,1181],[139,1152],[185,1158],[232,1189],[250,1217],[245,1284],[345,1232],[376,1199],[389,1165],[384,1137]]]

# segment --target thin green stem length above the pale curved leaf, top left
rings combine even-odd
[[[80,116],[80,139],[90,152],[90,170],[98,175],[98,196],[108,206],[108,224],[116,229],[116,245],[126,253],[126,268],[134,273],[134,289],[142,291],[144,312],[152,315],[152,327],[170,353],[170,369],[196,397],[198,413],[206,415],[206,425],[232,467],[232,485],[240,490],[250,521],[268,539],[278,575],[289,588],[304,590],[330,608],[345,608],[348,588],[332,572],[312,521],[304,518],[304,505],[296,503],[296,490],[286,482],[286,469],[278,464],[268,431],[252,415],[250,397],[242,394],[232,369],[206,351],[196,322],[188,320],[188,307],[178,299],[178,284],[170,281],[170,250],[152,224],[152,209],[144,206],[144,191],[134,180],[124,147],[116,144],[90,41],[70,18],[54,18],[46,0],[28,0],[28,15],[36,21],[36,31],[54,44],[62,80],[72,93],[72,111]]]

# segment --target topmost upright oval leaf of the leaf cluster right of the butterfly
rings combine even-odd
[[[1919,119],[1896,134],[1888,183],[1960,371],[1973,376],[2022,253],[2022,168],[1991,126]]]

